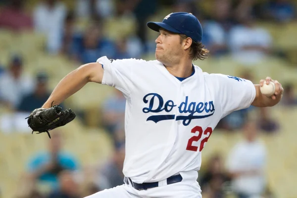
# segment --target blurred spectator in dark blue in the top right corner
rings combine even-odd
[[[296,8],[292,0],[270,0],[265,6],[266,18],[277,22],[292,21],[296,16]]]

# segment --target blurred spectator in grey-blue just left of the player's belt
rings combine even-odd
[[[96,184],[101,189],[110,189],[124,184],[123,164],[125,159],[125,146],[116,148],[110,161],[99,172]]]

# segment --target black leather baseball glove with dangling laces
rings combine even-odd
[[[71,109],[62,111],[60,106],[54,105],[50,108],[37,108],[27,118],[28,125],[33,130],[32,134],[34,131],[38,131],[39,133],[47,132],[49,135],[49,130],[64,126],[71,122],[75,116]]]

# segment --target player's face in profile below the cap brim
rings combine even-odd
[[[155,57],[164,65],[172,65],[180,60],[183,55],[181,39],[178,34],[160,29],[160,35],[155,40]]]

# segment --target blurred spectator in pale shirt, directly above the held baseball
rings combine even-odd
[[[255,26],[253,16],[240,13],[240,24],[231,28],[229,48],[234,60],[243,64],[254,64],[263,60],[270,52],[272,39],[268,31]]]

